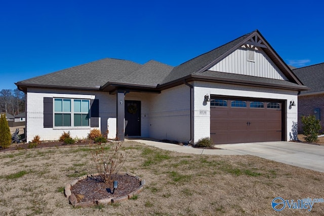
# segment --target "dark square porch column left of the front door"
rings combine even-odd
[[[124,91],[117,91],[117,134],[116,137],[120,141],[125,138],[125,94]]]

